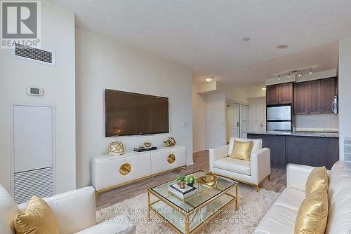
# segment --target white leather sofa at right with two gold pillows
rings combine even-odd
[[[288,164],[286,188],[260,221],[254,234],[293,234],[296,216],[305,199],[305,184],[314,167]],[[343,161],[329,172],[329,213],[326,234],[351,233],[351,175]]]

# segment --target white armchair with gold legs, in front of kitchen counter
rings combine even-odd
[[[239,142],[253,142],[250,161],[230,158],[234,139]],[[210,149],[210,171],[237,181],[256,186],[270,177],[270,149],[262,148],[262,139],[241,139],[230,137],[229,144]]]

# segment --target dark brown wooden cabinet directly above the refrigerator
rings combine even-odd
[[[267,86],[266,98],[267,105],[293,103],[293,83]]]

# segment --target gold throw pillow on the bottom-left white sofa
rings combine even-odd
[[[59,234],[60,228],[51,207],[37,196],[30,198],[25,210],[15,216],[16,234]]]

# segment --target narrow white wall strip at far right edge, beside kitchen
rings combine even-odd
[[[339,143],[343,160],[344,137],[351,137],[351,38],[339,41]]]

